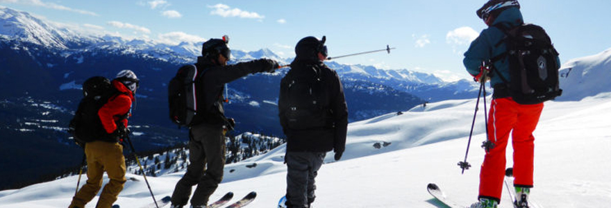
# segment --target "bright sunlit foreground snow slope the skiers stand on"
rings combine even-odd
[[[582,101],[545,103],[535,131],[535,189],[531,196],[544,207],[611,206],[611,93]],[[476,200],[485,139],[478,116],[468,162],[461,175],[475,99],[429,103],[402,115],[386,114],[349,125],[346,153],[333,162],[329,153],[317,177],[316,207],[442,207],[426,192],[435,182],[464,205]],[[479,115],[483,114],[480,106]],[[374,144],[379,148],[374,147]],[[390,143],[390,144],[389,144]],[[258,197],[249,207],[275,207],[285,193],[284,146],[227,165],[224,182],[211,200],[233,191]],[[508,164],[511,166],[511,147]],[[246,166],[257,166],[249,168]],[[183,172],[147,177],[156,198],[168,196]],[[152,202],[140,175],[128,174],[117,204],[141,207]],[[67,207],[78,176],[0,191],[0,207]],[[85,183],[86,177],[81,179]],[[107,181],[105,181],[107,182]],[[511,207],[503,190],[501,207]],[[234,199],[234,200],[236,200]],[[94,207],[97,198],[87,207]]]

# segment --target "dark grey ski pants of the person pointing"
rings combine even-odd
[[[176,184],[171,202],[174,205],[186,205],[192,187],[197,185],[191,205],[207,205],[208,198],[223,180],[225,136],[222,128],[210,125],[194,125],[190,134],[190,164],[187,173]]]

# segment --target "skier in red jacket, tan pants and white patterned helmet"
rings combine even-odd
[[[139,86],[140,80],[130,70],[117,73],[117,78],[112,80],[112,86],[119,92],[116,96],[108,99],[98,111],[98,116],[103,128],[111,139],[100,138],[97,141],[85,144],[85,155],[87,156],[87,184],[76,193],[69,208],[84,208],[98,193],[102,185],[104,171],[108,174],[110,181],[102,193],[96,207],[110,208],[117,200],[119,192],[125,184],[125,157],[123,146],[119,144],[129,134],[127,118],[131,116],[131,106],[135,101],[134,94]]]

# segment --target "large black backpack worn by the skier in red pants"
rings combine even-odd
[[[507,85],[514,101],[520,104],[536,104],[560,96],[562,89],[558,81],[559,54],[544,29],[534,24],[523,24],[514,28],[496,27],[505,33],[501,42],[505,42],[507,52],[490,61],[496,62],[508,57],[511,81],[508,82],[501,73],[497,74]]]

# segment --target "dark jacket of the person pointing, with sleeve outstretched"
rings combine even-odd
[[[196,80],[196,96],[198,112],[194,116],[192,124],[205,123],[213,126],[226,125],[227,118],[223,107],[223,91],[226,83],[247,76],[249,73],[263,72],[271,69],[266,60],[252,60],[226,66],[219,66],[203,57],[197,58],[198,73],[204,69],[203,78]],[[203,101],[203,102],[201,102]],[[201,110],[203,109],[203,110]]]

